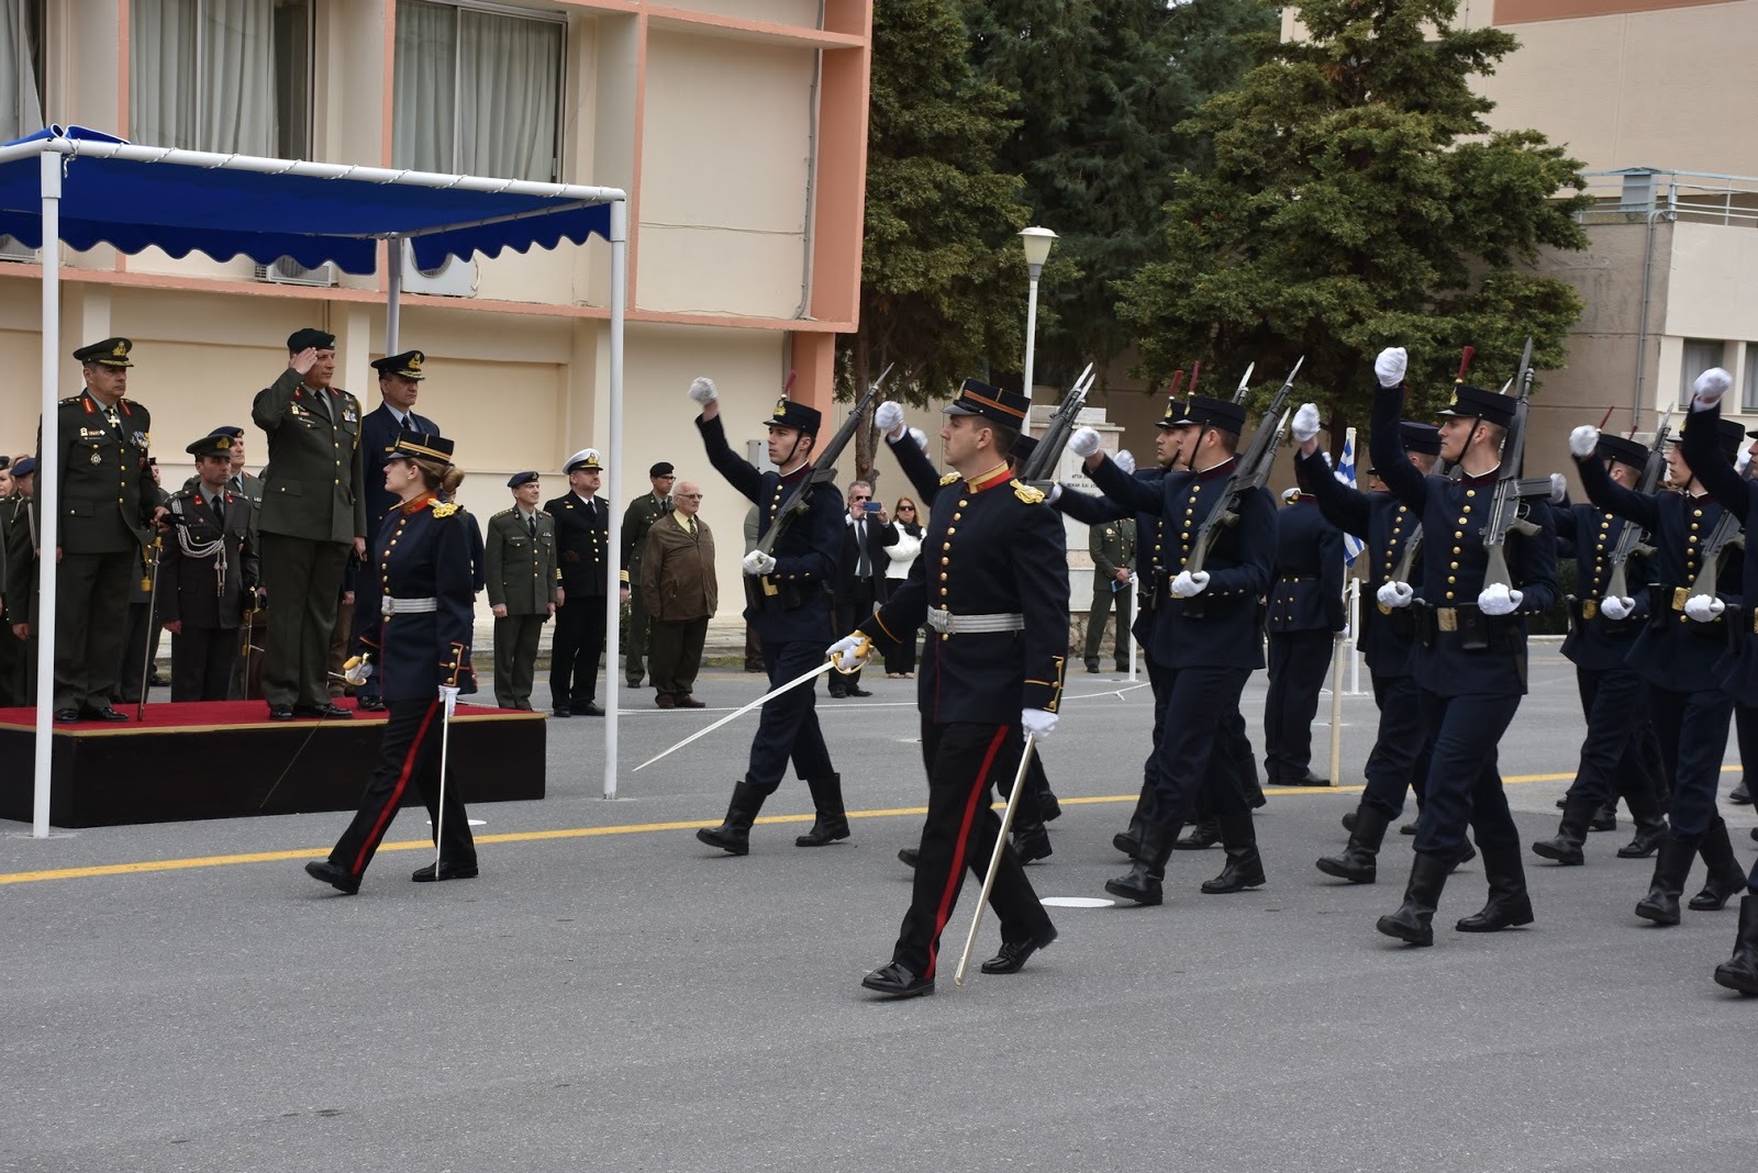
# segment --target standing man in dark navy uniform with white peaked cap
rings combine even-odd
[[[506,488],[513,490],[513,507],[489,518],[483,555],[494,609],[494,702],[529,711],[538,639],[561,594],[556,518],[538,509],[536,472],[513,472]]]

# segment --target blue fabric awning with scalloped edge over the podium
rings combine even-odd
[[[171,256],[290,256],[371,274],[378,241],[411,237],[415,263],[610,239],[607,188],[475,179],[332,163],[139,148],[81,126],[51,126],[0,148],[0,234],[42,248],[39,153],[63,160],[60,237],[76,249],[160,248]]]

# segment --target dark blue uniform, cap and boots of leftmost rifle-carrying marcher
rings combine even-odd
[[[817,409],[782,399],[768,418],[770,427],[795,428],[817,435],[821,416]],[[719,416],[696,418],[708,464],[758,507],[758,537],[768,534],[775,515],[796,485],[812,476],[812,467],[802,464],[782,476],[758,472],[747,460],[726,444],[726,428]],[[830,583],[835,581],[837,558],[842,551],[842,493],[833,485],[810,488],[810,502],[803,516],[788,523],[775,541],[772,557],[775,569],[761,578],[747,576],[745,622],[763,643],[763,669],[770,688],[825,662],[825,646],[832,639]],[[795,839],[800,846],[847,838],[847,817],[842,810],[842,778],[830,762],[830,748],[817,727],[817,690],[791,688],[763,704],[758,732],[751,741],[751,760],[745,776],[733,787],[733,801],[726,822],[716,831],[698,831],[696,838],[712,846],[744,855],[749,852],[751,824],[763,801],[775,794],[788,760],[812,792],[817,820],[809,834]]]

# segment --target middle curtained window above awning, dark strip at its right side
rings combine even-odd
[[[313,0],[132,0],[130,137],[309,158]]]

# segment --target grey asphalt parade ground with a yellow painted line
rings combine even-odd
[[[1435,948],[1373,929],[1398,906],[1410,839],[1352,887],[1336,852],[1359,799],[1373,701],[1343,702],[1334,790],[1271,792],[1269,883],[1202,896],[1218,852],[1180,852],[1160,908],[1053,908],[1060,941],[1014,976],[902,1003],[860,987],[909,901],[895,859],[925,797],[914,683],[821,695],[853,817],[810,824],[786,781],[749,857],[700,845],[744,766],[752,718],[629,767],[756,697],[707,673],[701,713],[626,697],[619,797],[601,723],[550,722],[548,797],[471,808],[476,880],[410,883],[431,859],[404,811],[343,897],[309,880],[346,815],[95,829],[0,824],[0,1169],[478,1171],[1348,1169],[1649,1173],[1751,1164],[1758,999],[1711,980],[1735,904],[1674,929],[1631,915],[1651,860],[1528,855],[1536,924],[1452,931],[1484,901],[1452,878]],[[1366,676],[1362,676],[1366,687]],[[821,690],[823,692],[823,690]],[[1264,681],[1246,716],[1259,743]],[[1104,897],[1148,750],[1146,687],[1069,680],[1044,746],[1064,815],[1028,874]],[[1320,708],[1327,720],[1329,697]],[[1582,722],[1573,671],[1533,657],[1500,746],[1524,839],[1554,834]],[[1329,725],[1315,727],[1326,773]],[[1737,750],[1730,739],[1730,764]],[[248,771],[253,762],[190,762]],[[362,778],[369,762],[362,762]],[[506,769],[519,769],[506,762]],[[1723,794],[1739,780],[1723,774]],[[1723,813],[1751,860],[1749,806]],[[1688,892],[1702,880],[1693,873]],[[984,918],[976,959],[995,952]]]

